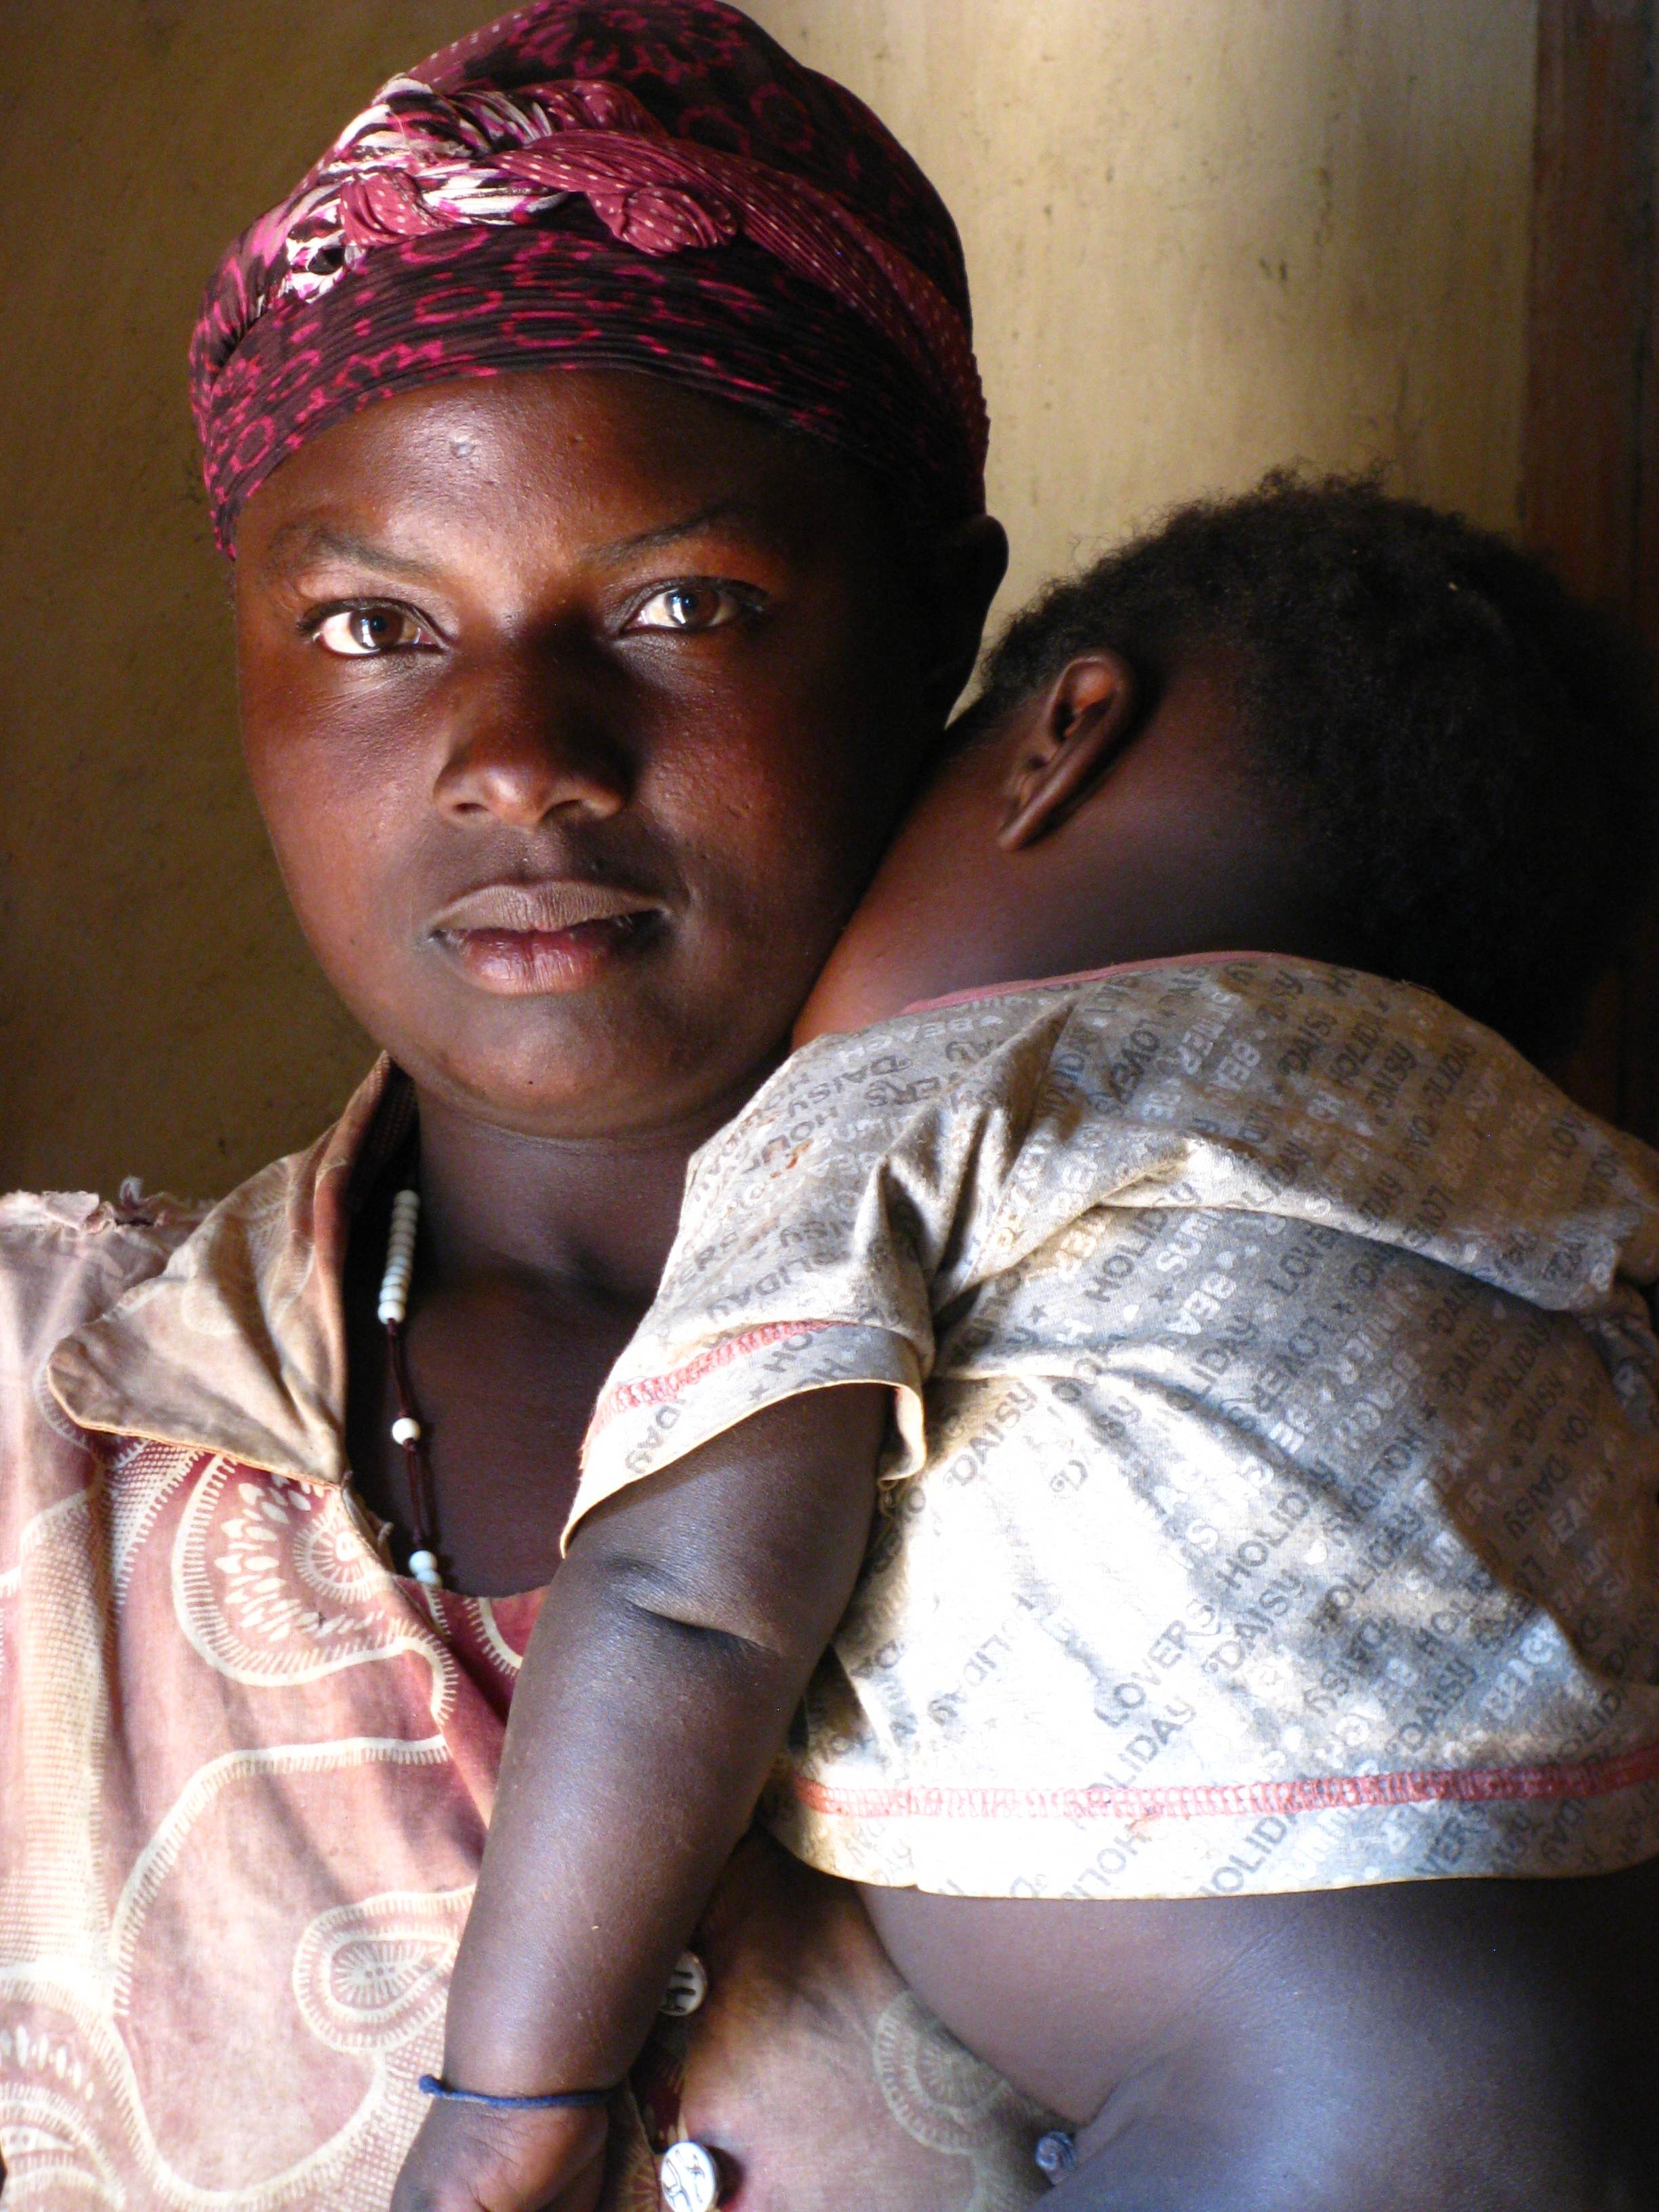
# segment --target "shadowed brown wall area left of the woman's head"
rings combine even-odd
[[[385,75],[484,13],[7,11],[0,1188],[219,1192],[367,1066],[243,790],[184,356],[223,243]]]

